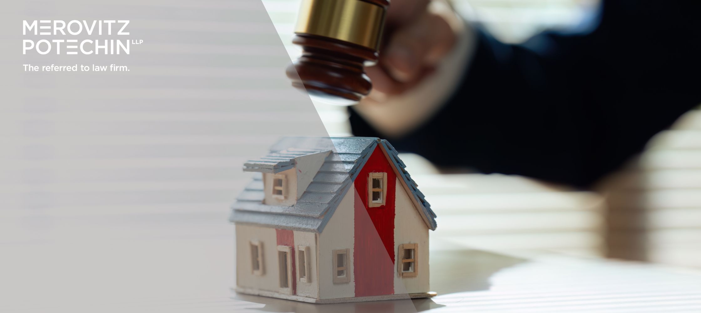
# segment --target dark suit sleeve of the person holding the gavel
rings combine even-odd
[[[461,87],[402,138],[439,166],[590,187],[701,102],[700,1],[606,1],[586,34],[479,33]],[[359,136],[383,137],[351,109]]]

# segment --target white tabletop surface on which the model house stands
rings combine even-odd
[[[36,215],[0,234],[0,312],[701,312],[701,274],[432,241],[430,300],[312,305],[230,291],[222,213]],[[9,226],[9,227],[8,227]]]

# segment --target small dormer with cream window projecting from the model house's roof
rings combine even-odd
[[[247,161],[243,165],[243,171],[262,173],[263,204],[294,206],[324,164],[329,152],[287,148]]]

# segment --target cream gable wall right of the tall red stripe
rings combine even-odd
[[[397,178],[395,205],[395,293],[426,293],[429,290],[428,272],[428,227],[423,222],[421,214],[411,201]],[[417,254],[418,274],[416,277],[399,277],[396,263],[401,262],[400,244],[418,244]]]

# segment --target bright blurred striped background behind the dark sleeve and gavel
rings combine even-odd
[[[291,58],[299,0],[263,0]],[[546,28],[586,24],[597,0],[453,0],[496,38],[518,43]],[[329,135],[350,135],[346,108],[315,103]],[[634,114],[634,112],[631,112]],[[632,115],[632,118],[633,115]],[[506,175],[440,174],[404,154],[439,216],[432,238],[487,250],[622,258],[701,267],[701,111],[660,133],[594,192]]]

